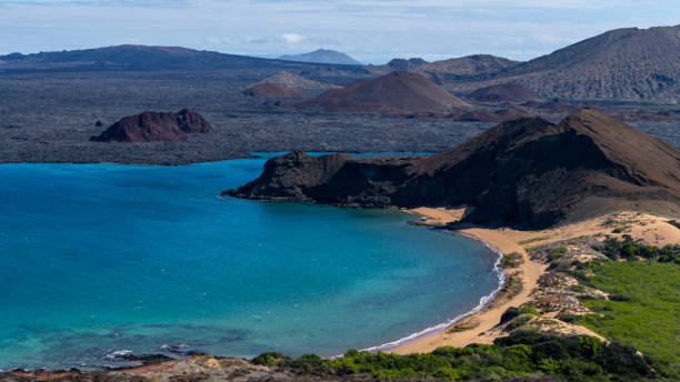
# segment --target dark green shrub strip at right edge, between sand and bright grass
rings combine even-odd
[[[623,235],[623,241],[616,238],[607,238],[602,244],[594,245],[593,249],[604,253],[611,260],[634,260],[637,257],[641,257],[654,259],[659,262],[680,264],[680,244],[656,248],[640,244],[628,234]]]

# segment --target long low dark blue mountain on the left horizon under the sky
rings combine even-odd
[[[116,46],[97,49],[1,56],[2,71],[91,70],[312,70],[318,64],[199,51],[179,47]],[[332,66],[331,66],[332,67]]]

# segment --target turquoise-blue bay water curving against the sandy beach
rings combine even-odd
[[[473,309],[496,255],[397,211],[219,198],[263,159],[0,165],[0,369],[339,354]]]

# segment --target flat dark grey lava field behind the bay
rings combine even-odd
[[[263,105],[241,91],[261,70],[42,72],[0,76],[0,162],[184,164],[250,151],[439,152],[494,123],[327,113]],[[341,83],[342,80],[337,81]],[[144,110],[190,108],[214,129],[187,141],[90,142]],[[96,127],[101,120],[104,127]],[[680,123],[633,125],[680,147]]]

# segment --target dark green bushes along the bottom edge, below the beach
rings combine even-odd
[[[271,353],[263,355],[253,362],[270,365],[270,360],[274,359],[278,366],[302,373],[370,374],[381,380],[426,376],[496,380],[550,375],[566,381],[640,381],[656,376],[649,360],[636,355],[630,346],[607,345],[589,336],[551,336],[527,330],[497,339],[492,345],[442,346],[428,354],[397,355],[350,350],[336,360],[310,354],[297,360]]]

